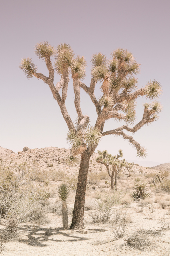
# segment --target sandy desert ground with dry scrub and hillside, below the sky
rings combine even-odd
[[[64,149],[50,150],[60,152],[62,161]],[[70,230],[78,166],[57,160],[53,167],[44,162],[43,168],[41,157],[34,159],[36,151],[31,151],[29,163],[22,162],[25,156],[16,155],[12,163],[10,157],[1,159],[0,255],[169,255],[167,172],[134,164],[132,177],[127,177],[124,167],[115,191],[94,155],[87,178],[85,229]],[[161,183],[155,179],[154,185],[156,174]],[[68,189],[67,199],[62,186]]]

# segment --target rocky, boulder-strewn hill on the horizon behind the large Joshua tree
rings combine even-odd
[[[17,168],[17,166],[22,163],[27,163],[27,166],[30,167],[37,163],[42,170],[49,170],[50,167],[53,167],[56,170],[64,170],[68,174],[78,173],[79,165],[69,165],[64,159],[69,152],[70,151],[68,149],[58,147],[34,148],[31,150],[28,147],[24,147],[23,151],[18,151],[17,154],[12,150],[0,147],[0,158],[1,164],[10,166],[12,169]],[[89,162],[89,172],[100,172],[101,170],[106,170],[104,165],[95,161],[97,156],[97,153],[94,153],[91,156]],[[157,173],[157,170],[159,169],[134,164],[132,173]],[[127,172],[125,167],[123,168],[122,172]]]

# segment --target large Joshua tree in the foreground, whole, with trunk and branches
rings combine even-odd
[[[140,65],[134,60],[131,52],[125,49],[117,49],[111,53],[111,59],[101,53],[94,54],[91,58],[91,83],[86,86],[82,80],[85,77],[86,61],[84,56],[75,56],[68,44],[60,44],[57,49],[49,45],[48,42],[41,42],[35,47],[35,54],[44,60],[49,71],[46,77],[42,73],[37,73],[37,66],[31,58],[24,58],[20,68],[27,78],[36,77],[48,84],[54,99],[57,101],[61,114],[69,129],[68,140],[71,143],[71,152],[68,156],[70,163],[77,162],[77,155],[81,154],[80,169],[77,183],[77,190],[72,218],[72,229],[84,229],[84,201],[87,185],[87,173],[89,159],[94,153],[98,142],[102,136],[119,135],[134,145],[139,157],[146,155],[146,149],[134,138],[124,131],[137,132],[143,125],[150,124],[157,119],[157,113],[161,110],[158,101],[144,103],[144,113],[141,121],[133,127],[129,124],[135,122],[136,99],[145,96],[146,99],[158,98],[161,94],[161,85],[158,81],[151,80],[146,86],[137,88],[137,79],[134,77],[139,72]],[[51,57],[55,56],[54,67]],[[61,80],[54,85],[54,72],[60,74]],[[77,112],[76,124],[73,123],[66,108],[67,89],[69,74],[73,80],[73,90],[75,94],[75,109]],[[101,82],[100,90],[102,96],[99,100],[95,97],[95,87]],[[80,89],[84,90],[93,102],[97,120],[94,127],[88,127],[89,116],[84,115],[80,106]],[[61,90],[61,91],[60,91]],[[104,123],[109,120],[125,122],[120,127],[113,127],[113,130],[104,131]]]

